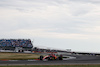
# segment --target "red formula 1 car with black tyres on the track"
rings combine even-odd
[[[55,54],[50,54],[50,55],[47,55],[47,56],[40,56],[40,60],[62,60],[62,55],[60,56],[56,56]]]

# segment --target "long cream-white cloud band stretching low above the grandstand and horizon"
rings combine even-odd
[[[54,29],[20,29],[10,32],[5,32],[5,34],[2,34],[3,36],[9,36],[11,37],[40,37],[40,38],[57,38],[57,39],[76,39],[76,40],[88,40],[88,39],[99,39],[100,35],[95,34],[75,34],[75,33],[57,33],[57,32],[48,32],[48,30],[54,30]],[[2,37],[1,37],[2,38]]]

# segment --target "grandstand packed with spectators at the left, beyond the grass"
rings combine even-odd
[[[2,50],[31,50],[33,47],[30,39],[0,39]]]

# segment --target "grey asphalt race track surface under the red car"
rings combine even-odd
[[[19,60],[19,61],[0,61],[0,65],[80,65],[80,64],[100,64],[100,56],[70,55],[76,59],[70,60]]]

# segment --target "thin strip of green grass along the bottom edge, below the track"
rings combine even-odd
[[[100,65],[28,65],[28,66],[0,66],[0,67],[100,67]]]

